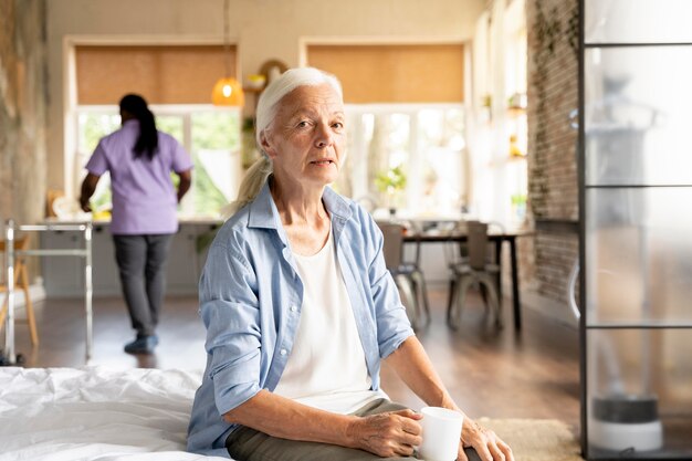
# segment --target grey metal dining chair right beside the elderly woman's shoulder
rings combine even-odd
[[[430,305],[426,280],[420,270],[420,242],[417,242],[416,261],[403,261],[403,232],[402,224],[395,222],[378,222],[382,231],[385,243],[382,253],[385,264],[391,273],[407,307],[407,315],[415,329],[430,323]],[[421,316],[424,315],[424,324]]]

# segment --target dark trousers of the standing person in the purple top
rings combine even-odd
[[[113,235],[123,296],[137,336],[155,334],[172,234]]]

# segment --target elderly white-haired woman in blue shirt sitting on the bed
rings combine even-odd
[[[241,461],[412,460],[421,416],[388,400],[381,360],[428,405],[461,410],[413,335],[377,224],[328,187],[345,159],[338,81],[310,67],[282,74],[259,101],[256,140],[263,156],[200,281],[207,370],[188,449]],[[513,460],[466,418],[459,459],[476,452]]]

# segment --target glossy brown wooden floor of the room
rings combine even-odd
[[[577,331],[525,308],[524,328],[514,332],[511,303],[504,300],[505,324],[496,331],[480,297],[469,298],[462,327],[444,324],[444,290],[431,290],[431,324],[418,332],[452,397],[471,417],[556,418],[577,427],[579,411]],[[94,300],[93,358],[85,362],[85,323],[81,300],[38,303],[41,345],[32,349],[29,331],[17,325],[17,352],[27,367],[188,368],[205,367],[205,328],[196,297],[167,300],[156,355],[123,353],[134,337],[118,297]],[[19,312],[18,316],[23,313]],[[4,335],[2,335],[4,336]],[[386,367],[382,387],[397,401],[420,408],[417,399]]]

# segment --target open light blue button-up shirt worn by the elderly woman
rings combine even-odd
[[[385,265],[382,233],[370,214],[329,188],[323,202],[377,390],[380,360],[413,331]],[[303,283],[265,184],[254,201],[219,230],[199,283],[207,369],[195,396],[189,451],[229,457],[226,439],[238,426],[227,423],[222,415],[261,389],[274,390],[297,332]]]

